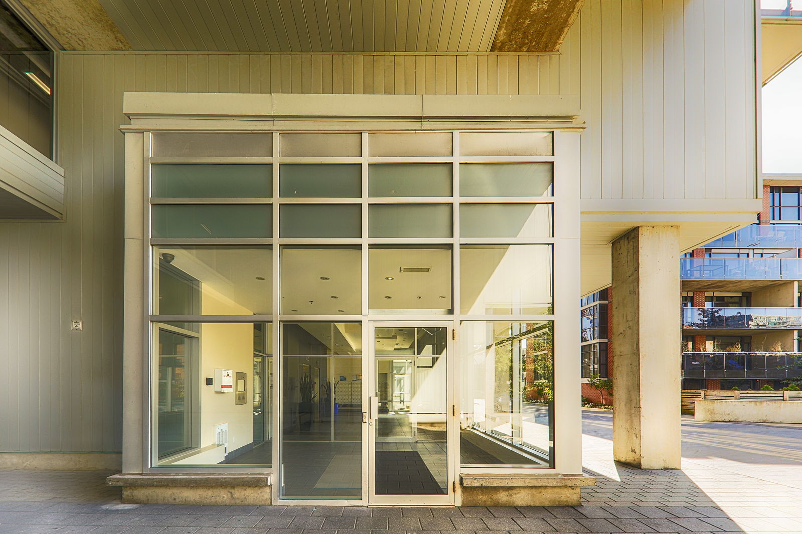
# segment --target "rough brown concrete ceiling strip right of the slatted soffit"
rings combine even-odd
[[[549,52],[560,49],[585,0],[507,0],[494,52]]]

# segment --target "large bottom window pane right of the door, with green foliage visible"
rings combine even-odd
[[[553,323],[461,328],[461,463],[553,467]]]

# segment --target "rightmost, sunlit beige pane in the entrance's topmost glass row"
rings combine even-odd
[[[462,156],[551,156],[552,134],[545,131],[464,131]]]

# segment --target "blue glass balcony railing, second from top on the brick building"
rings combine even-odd
[[[683,280],[802,280],[798,257],[683,257]]]

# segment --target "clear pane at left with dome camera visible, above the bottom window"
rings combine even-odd
[[[269,247],[153,247],[153,314],[269,315]]]

